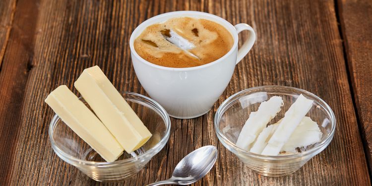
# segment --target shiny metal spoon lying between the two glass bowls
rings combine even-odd
[[[203,146],[187,154],[176,166],[172,178],[156,182],[147,186],[160,186],[167,184],[189,185],[203,178],[213,167],[217,160],[215,146]]]

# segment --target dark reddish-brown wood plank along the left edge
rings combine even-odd
[[[7,185],[17,156],[18,132],[23,126],[23,101],[34,55],[37,1],[19,0],[0,71],[0,180]],[[30,17],[35,16],[34,19]],[[6,31],[7,32],[7,31]],[[1,38],[0,38],[1,39]],[[1,57],[0,57],[1,59]]]

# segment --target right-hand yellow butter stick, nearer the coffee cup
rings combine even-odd
[[[127,153],[138,149],[151,137],[150,131],[98,66],[84,69],[74,86]]]

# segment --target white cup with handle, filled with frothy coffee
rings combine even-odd
[[[187,67],[187,65],[190,65],[191,62],[185,60],[186,66],[184,63],[183,65],[177,65],[178,67],[169,67],[166,64],[170,64],[170,62],[175,61],[174,59],[179,58],[178,56],[173,56],[166,58],[168,59],[167,63],[164,62],[163,65],[158,65],[155,63],[155,60],[152,59],[156,57],[154,57],[153,55],[156,55],[156,53],[159,52],[159,56],[163,55],[163,59],[165,59],[164,52],[160,52],[157,47],[152,47],[149,48],[151,49],[150,52],[146,52],[148,57],[146,58],[146,56],[142,54],[143,51],[146,51],[146,49],[139,49],[138,46],[136,46],[135,44],[135,40],[137,38],[149,40],[151,42],[154,42],[155,44],[159,42],[156,40],[151,40],[153,38],[142,37],[144,36],[142,35],[143,33],[149,33],[146,30],[148,28],[152,28],[153,25],[156,25],[154,27],[163,25],[163,27],[165,26],[164,29],[169,30],[169,33],[167,33],[166,30],[163,31],[163,33],[159,33],[159,30],[162,31],[164,29],[156,28],[155,30],[157,30],[157,32],[154,32],[154,34],[157,36],[152,37],[160,38],[164,43],[165,40],[170,40],[174,43],[172,45],[177,45],[179,46],[178,48],[182,46],[183,52],[186,51],[185,53],[194,52],[194,54],[187,54],[189,56],[200,55],[199,51],[207,51],[202,54],[210,54],[210,51],[213,51],[213,47],[210,48],[210,50],[204,49],[203,47],[199,48],[198,50],[187,48],[190,47],[187,42],[191,42],[192,44],[194,44],[192,38],[196,38],[198,36],[195,36],[193,35],[194,33],[189,32],[189,29],[187,31],[187,34],[183,34],[183,32],[186,32],[184,30],[187,29],[175,31],[173,30],[175,29],[175,27],[167,27],[167,25],[164,25],[164,23],[168,21],[171,22],[172,20],[178,20],[178,22],[176,21],[175,23],[170,25],[178,25],[180,28],[193,28],[191,27],[192,23],[191,25],[188,25],[188,21],[196,22],[194,23],[194,26],[195,24],[199,24],[200,22],[204,22],[204,25],[208,25],[209,23],[209,27],[204,26],[205,29],[209,32],[220,33],[221,35],[226,33],[224,31],[224,29],[226,29],[228,34],[224,34],[224,37],[221,38],[224,39],[223,41],[226,43],[230,43],[232,41],[232,44],[231,46],[227,45],[229,47],[227,47],[228,49],[225,52],[219,52],[219,54],[217,54],[217,52],[212,52],[213,55],[222,56],[214,56],[214,58],[217,58],[216,60],[210,59],[206,61],[207,63],[205,64],[196,63],[193,64],[194,66],[192,67]],[[203,23],[200,24],[203,25]],[[220,26],[222,26],[224,29],[219,29],[220,31],[218,31],[216,28],[220,28]],[[201,32],[204,31],[201,30],[201,28],[204,28],[197,28],[199,29],[196,33],[200,37],[202,34]],[[177,39],[175,39],[175,37],[172,38],[172,34],[170,34],[172,30],[173,33],[176,33],[182,37],[178,37]],[[247,39],[243,41],[243,45],[238,49],[238,34],[242,31],[247,31],[249,34]],[[185,39],[187,42],[180,38]],[[210,36],[205,38],[211,40],[211,38],[213,37]],[[234,73],[235,65],[248,54],[249,50],[254,44],[255,38],[256,36],[253,28],[247,24],[240,23],[233,26],[225,19],[209,13],[198,11],[175,11],[157,15],[155,17],[147,19],[146,21],[138,25],[138,27],[134,29],[132,35],[130,36],[129,47],[135,73],[145,91],[150,95],[152,99],[154,99],[162,107],[164,107],[164,109],[170,116],[174,118],[188,119],[201,116],[211,109],[211,107],[214,105],[216,100],[218,100],[218,98],[228,85]],[[221,40],[217,39],[213,41]],[[148,44],[151,44],[151,42],[149,42]],[[156,44],[156,46],[158,45],[160,44]],[[207,45],[205,47],[207,47]],[[215,47],[214,49],[220,50],[219,47]],[[178,54],[181,54],[181,56],[185,55],[181,52]],[[203,58],[202,55],[200,55],[200,57]],[[192,58],[192,56],[189,58]],[[176,66],[175,64],[173,65]]]

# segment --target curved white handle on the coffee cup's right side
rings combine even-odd
[[[252,27],[250,27],[248,24],[240,23],[234,26],[237,30],[238,34],[241,33],[244,30],[248,30],[249,32],[249,38],[244,42],[243,46],[238,50],[238,58],[237,63],[238,64],[242,59],[248,54],[250,49],[253,47],[254,41],[256,40],[256,33],[254,33],[254,30]]]

